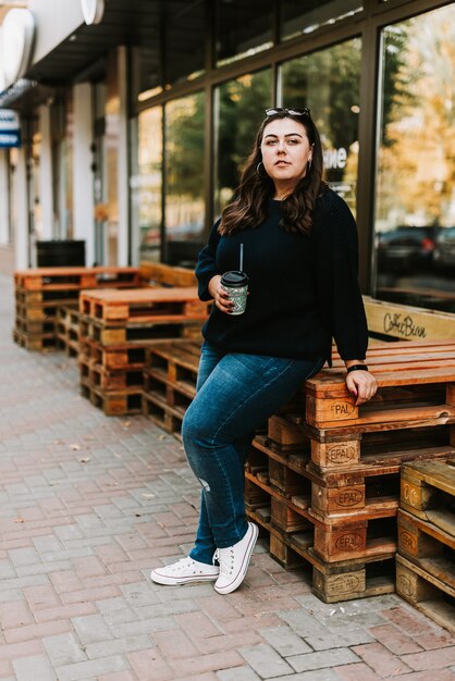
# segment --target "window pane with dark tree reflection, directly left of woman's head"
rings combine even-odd
[[[245,74],[216,89],[214,215],[238,185],[239,170],[271,102],[271,72]]]

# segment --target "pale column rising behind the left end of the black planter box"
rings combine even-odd
[[[41,146],[39,154],[39,202],[41,208],[41,237],[51,239],[54,236],[53,225],[53,179],[52,179],[52,143],[50,133],[50,109],[39,107],[39,132]]]

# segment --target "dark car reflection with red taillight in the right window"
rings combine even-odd
[[[401,225],[378,235],[378,268],[408,272],[432,265],[438,227]]]

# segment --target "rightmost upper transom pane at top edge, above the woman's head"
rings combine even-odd
[[[282,0],[281,36],[295,38],[362,10],[361,0]]]

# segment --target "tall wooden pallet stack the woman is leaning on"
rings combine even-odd
[[[405,352],[404,352],[405,350]],[[455,344],[372,346],[379,391],[360,407],[340,359],[306,382],[256,438],[246,468],[251,519],[284,566],[305,558],[328,603],[394,591],[399,470],[455,457]]]

